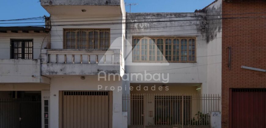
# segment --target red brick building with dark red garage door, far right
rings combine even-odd
[[[222,13],[222,127],[265,128],[266,73],[241,66],[266,69],[266,1],[226,0]]]

